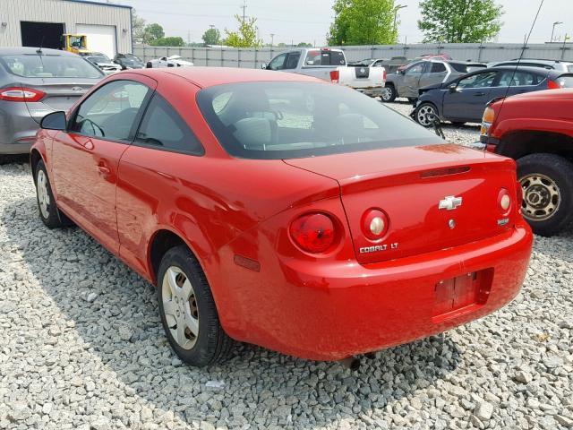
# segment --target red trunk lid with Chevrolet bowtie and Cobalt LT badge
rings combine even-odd
[[[338,181],[356,259],[363,264],[474,242],[515,222],[515,162],[483,151],[442,144],[285,162]],[[502,187],[511,197],[509,213],[500,210]],[[440,209],[440,202],[449,206],[458,197],[458,207]],[[363,234],[363,215],[371,208],[389,218],[379,241]]]

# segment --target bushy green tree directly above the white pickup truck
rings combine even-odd
[[[329,45],[389,45],[396,43],[394,0],[336,0]]]

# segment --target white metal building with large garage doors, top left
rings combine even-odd
[[[132,52],[132,8],[87,0],[0,0],[0,47],[62,46],[85,34],[90,51]]]

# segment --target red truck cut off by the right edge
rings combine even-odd
[[[573,89],[494,100],[480,141],[476,148],[517,161],[523,216],[535,233],[552,236],[573,222]]]

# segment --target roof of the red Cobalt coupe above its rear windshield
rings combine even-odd
[[[144,74],[156,80],[173,75],[180,76],[201,88],[236,82],[324,82],[304,74],[233,67],[170,67],[130,70],[130,73]]]

